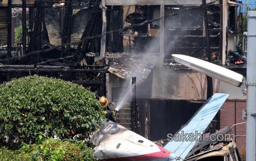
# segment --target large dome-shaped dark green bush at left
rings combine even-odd
[[[84,140],[104,118],[92,92],[71,82],[34,75],[0,86],[0,138],[29,143],[42,132]]]

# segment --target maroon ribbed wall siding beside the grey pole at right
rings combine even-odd
[[[245,122],[243,120],[243,109],[246,109],[245,101],[226,101],[220,111],[220,129],[228,126],[231,127],[234,124]],[[224,110],[224,111],[223,111]],[[231,133],[236,136],[246,135],[246,124],[237,125],[233,127]],[[235,142],[238,149],[242,149],[245,146],[246,137],[238,137]]]

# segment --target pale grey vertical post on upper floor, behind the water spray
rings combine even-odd
[[[160,18],[164,17],[164,4],[160,6]],[[164,18],[160,19],[160,58],[164,65]]]

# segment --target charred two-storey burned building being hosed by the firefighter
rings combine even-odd
[[[225,111],[237,116],[244,108],[240,88],[181,66],[171,56],[192,56],[245,76],[246,53],[236,48],[243,35],[238,1],[0,2],[0,83],[37,74],[91,86],[120,109],[118,123],[136,126],[153,141],[175,133],[214,93],[230,93]],[[17,43],[13,8],[22,8]],[[137,78],[133,103],[132,77]],[[242,121],[226,116],[220,111],[209,131]]]

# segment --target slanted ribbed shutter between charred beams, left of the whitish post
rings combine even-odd
[[[79,41],[91,15],[91,9],[74,9],[71,27],[71,43]]]

